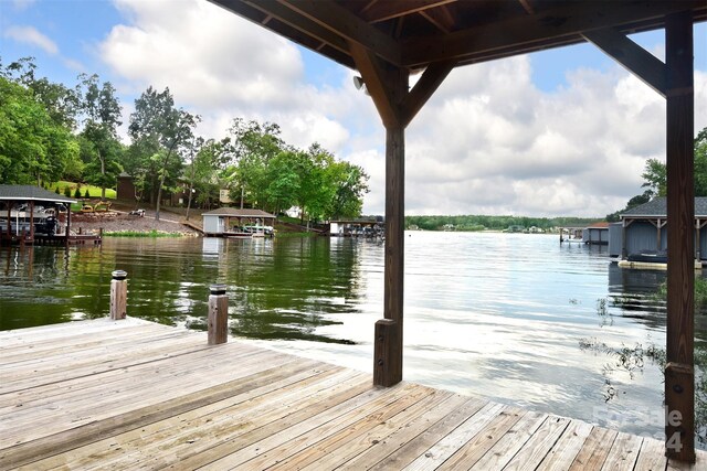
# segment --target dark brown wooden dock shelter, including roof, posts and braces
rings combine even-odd
[[[705,0],[211,0],[361,75],[386,127],[384,319],[373,382],[402,381],[405,128],[457,66],[591,42],[666,99],[666,452],[694,451],[694,39]],[[664,29],[665,61],[627,34]],[[413,87],[411,73],[421,72]],[[636,126],[641,126],[636,122]]]

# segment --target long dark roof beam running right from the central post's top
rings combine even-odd
[[[581,38],[587,31],[620,28],[686,9],[707,10],[704,0],[623,1],[612,2],[612,7],[606,9],[604,2],[571,2],[553,10],[463,30],[442,38],[410,39],[402,42],[401,65],[414,68],[435,61],[464,61],[466,56],[474,54],[529,46],[548,40]]]

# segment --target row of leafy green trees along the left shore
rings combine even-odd
[[[229,136],[205,141],[193,135],[200,118],[178,108],[169,88],[150,86],[135,101],[125,148],[117,137],[120,116],[116,89],[95,74],[80,75],[70,88],[39,78],[31,57],[0,66],[0,181],[86,182],[92,197],[105,199],[127,171],[136,197],[155,203],[157,217],[162,191],[184,180],[202,207],[225,188],[234,201],[243,195],[271,212],[299,205],[308,220],[361,212],[369,179],[363,170],[316,143],[306,151],[286,144],[276,124],[235,118]],[[81,197],[68,182],[65,194]]]

